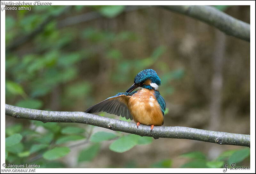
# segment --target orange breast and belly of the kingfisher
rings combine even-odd
[[[143,88],[132,95],[128,107],[135,122],[143,125],[163,125],[164,117],[153,89]]]

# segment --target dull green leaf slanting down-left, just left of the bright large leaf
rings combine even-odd
[[[78,157],[78,162],[82,161],[92,161],[93,158],[99,153],[100,151],[100,144],[94,144],[80,152]]]

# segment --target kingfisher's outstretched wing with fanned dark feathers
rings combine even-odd
[[[137,91],[135,91],[137,92]],[[108,112],[117,116],[125,117],[126,119],[133,119],[128,109],[128,100],[135,93],[118,93],[115,96],[109,97],[106,100],[93,105],[84,112],[95,113],[95,112]]]

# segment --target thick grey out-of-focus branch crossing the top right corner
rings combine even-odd
[[[158,7],[199,19],[224,33],[250,42],[250,24],[205,5],[160,5]]]

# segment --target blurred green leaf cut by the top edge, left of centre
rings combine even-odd
[[[124,11],[124,5],[104,5],[101,6],[99,12],[107,18],[114,18]]]

